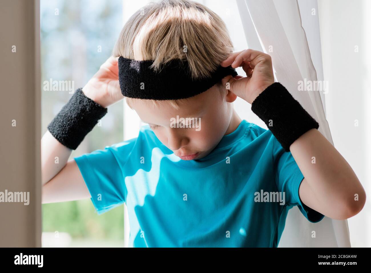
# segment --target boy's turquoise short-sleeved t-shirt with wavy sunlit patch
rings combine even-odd
[[[185,161],[148,125],[137,138],[74,158],[98,214],[126,203],[129,247],[277,247],[303,174],[267,129],[243,120],[214,150]]]

